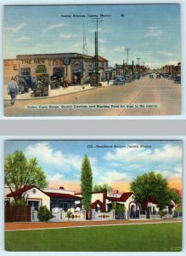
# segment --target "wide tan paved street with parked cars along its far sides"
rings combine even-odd
[[[154,76],[155,77],[155,76]],[[130,116],[130,115],[178,115],[181,113],[181,84],[168,79],[137,79],[126,85],[110,85],[69,95],[50,98],[17,100],[14,106],[4,101],[6,116]],[[103,103],[154,103],[160,108],[116,109],[25,109],[33,104],[103,104]]]

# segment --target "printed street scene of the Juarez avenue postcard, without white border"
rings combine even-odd
[[[181,114],[180,5],[4,6],[4,115]]]

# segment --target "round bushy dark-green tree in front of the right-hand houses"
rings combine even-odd
[[[160,210],[170,204],[168,183],[160,173],[149,172],[136,177],[130,183],[130,189],[135,195],[135,201],[144,203],[144,210],[147,210],[149,198],[155,198]]]

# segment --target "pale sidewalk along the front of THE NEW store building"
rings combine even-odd
[[[101,82],[102,86],[101,87],[106,87],[109,86],[110,84],[112,84],[112,82],[110,81],[110,84],[107,84],[107,82]],[[38,99],[38,98],[48,98],[48,97],[54,97],[54,96],[61,96],[61,95],[66,95],[66,94],[70,94],[70,93],[76,93],[76,92],[81,92],[84,90],[93,90],[96,89],[97,87],[93,87],[90,86],[90,84],[88,85],[72,85],[69,86],[68,88],[63,88],[62,86],[59,89],[55,89],[55,90],[51,90],[50,86],[48,88],[48,96],[43,96],[43,97],[33,97],[31,96],[31,93],[33,92],[32,90],[30,90],[28,93],[24,93],[24,94],[18,94],[17,95],[17,100],[31,100],[31,99]],[[4,100],[9,100],[10,96],[7,93],[7,85],[4,85]]]

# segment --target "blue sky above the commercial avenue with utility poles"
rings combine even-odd
[[[87,54],[94,55],[96,25],[88,15],[109,15],[99,24],[99,55],[109,60],[111,67],[127,62],[124,48],[130,48],[129,63],[140,58],[139,63],[150,68],[181,61],[179,4],[5,6],[4,59],[82,53],[83,20]]]

